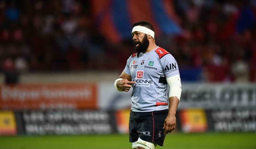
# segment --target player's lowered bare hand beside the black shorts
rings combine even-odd
[[[163,129],[165,129],[164,134],[171,133],[176,127],[176,117],[175,115],[168,114],[163,122]]]

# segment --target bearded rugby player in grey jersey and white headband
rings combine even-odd
[[[165,135],[176,127],[181,79],[177,61],[155,44],[153,26],[140,21],[132,28],[136,53],[129,57],[114,86],[120,92],[133,87],[129,118],[132,148],[154,149],[163,146]]]

